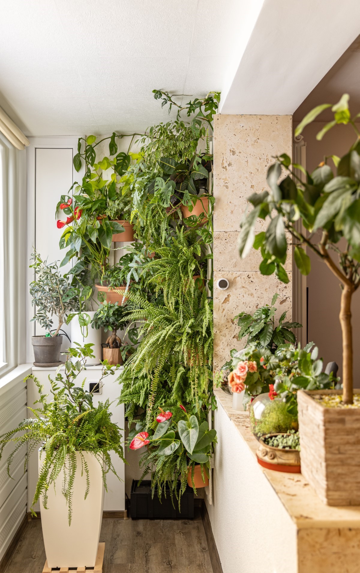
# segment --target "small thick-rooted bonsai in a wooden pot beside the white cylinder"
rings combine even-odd
[[[128,324],[129,312],[126,307],[119,307],[117,303],[102,303],[100,308],[94,313],[92,327],[104,328],[105,332],[110,331],[110,335],[103,347],[104,360],[108,364],[122,364],[121,339],[117,336],[119,328]]]

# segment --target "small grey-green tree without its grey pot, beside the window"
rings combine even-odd
[[[34,317],[51,336],[56,336],[69,313],[80,312],[80,289],[70,286],[69,277],[59,273],[57,262],[48,264],[43,261],[36,250],[31,254],[35,269],[35,280],[30,282],[30,295],[35,308]],[[53,316],[57,317],[57,328],[53,327]],[[53,331],[53,332],[52,332]]]

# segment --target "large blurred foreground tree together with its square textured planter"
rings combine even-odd
[[[360,285],[360,133],[351,118],[349,95],[332,106],[334,120],[318,133],[322,139],[336,124],[353,126],[356,140],[342,158],[326,157],[309,174],[282,154],[268,168],[270,191],[254,193],[248,201],[254,206],[245,213],[240,234],[240,256],[251,246],[261,249],[260,272],[275,272],[288,282],[284,262],[287,256],[286,231],[295,242],[294,260],[302,274],[310,272],[310,258],[304,248],[327,265],[339,279],[342,289],[339,319],[342,329],[342,392],[339,390],[298,393],[301,466],[304,477],[329,505],[359,505],[360,448],[355,429],[360,426],[358,391],[353,390],[353,339],[351,300]],[[302,120],[295,135],[331,104],[319,105]],[[334,172],[335,166],[335,172]],[[280,182],[282,171],[286,171]],[[302,182],[295,170],[303,171]],[[267,230],[255,237],[256,219],[269,219]],[[297,224],[303,223],[302,232]],[[346,431],[346,437],[344,430]]]

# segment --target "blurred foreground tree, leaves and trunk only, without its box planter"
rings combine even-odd
[[[310,258],[304,250],[307,247],[339,279],[342,289],[339,319],[343,341],[342,382],[345,404],[353,403],[351,299],[360,285],[360,132],[355,125],[359,114],[351,118],[348,103],[349,95],[344,94],[333,106],[323,104],[312,109],[296,128],[295,135],[299,135],[324,109],[331,107],[334,120],[323,127],[317,139],[321,140],[336,124],[350,124],[357,139],[349,152],[342,158],[335,155],[325,157],[311,174],[302,166],[292,164],[288,155],[277,156],[267,171],[270,191],[254,193],[248,197],[254,209],[244,214],[239,242],[242,258],[246,257],[254,244],[254,248],[260,248],[262,253],[260,272],[275,272],[280,281],[288,282],[283,266],[287,257],[285,231],[288,231],[295,244],[295,264],[302,274],[310,273],[311,268]],[[287,175],[278,182],[282,169]],[[300,180],[295,170],[303,172],[305,182]],[[267,230],[255,237],[254,226],[258,217],[268,218],[269,223]],[[304,233],[299,230],[296,224],[298,221],[306,229]],[[331,251],[337,255],[337,262],[330,256]]]

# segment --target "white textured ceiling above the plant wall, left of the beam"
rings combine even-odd
[[[221,90],[246,2],[0,0],[0,105],[26,135],[143,132],[152,89]]]

